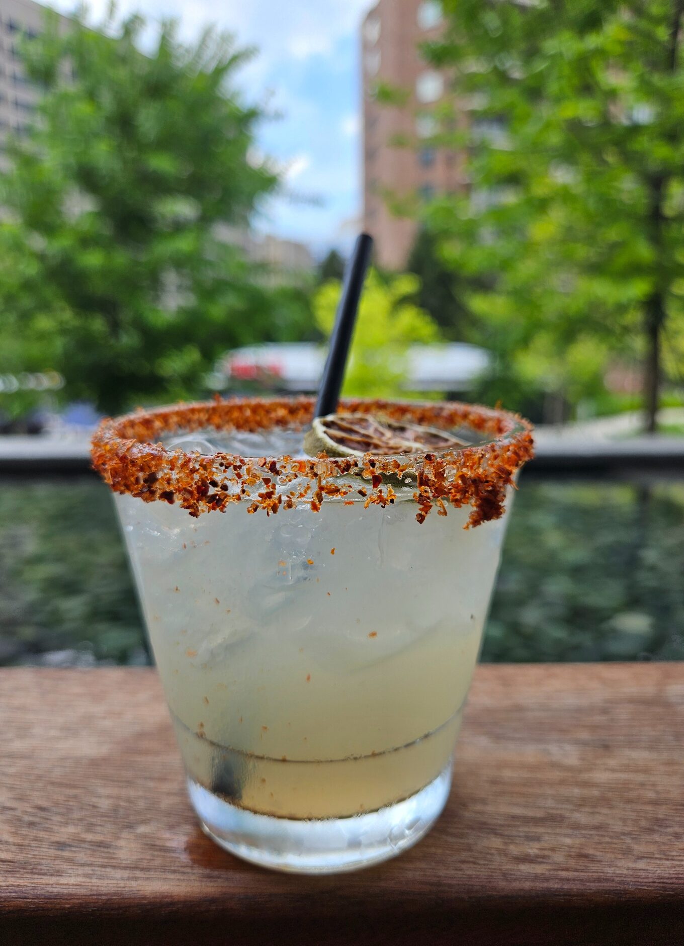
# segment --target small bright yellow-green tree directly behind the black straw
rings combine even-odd
[[[342,394],[362,397],[407,396],[403,381],[407,354],[414,342],[439,342],[439,327],[411,302],[419,289],[411,273],[366,277]],[[341,285],[330,281],[313,300],[316,323],[329,335],[335,322]],[[425,395],[423,395],[425,396]]]

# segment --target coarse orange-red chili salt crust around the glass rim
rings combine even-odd
[[[289,456],[254,459],[222,451],[185,452],[164,447],[157,439],[163,434],[206,428],[250,432],[300,428],[310,423],[313,408],[311,397],[240,397],[106,418],[93,437],[93,465],[115,493],[128,493],[146,502],[178,502],[194,517],[224,512],[230,503],[240,501],[248,502],[249,513],[262,509],[270,515],[302,503],[319,512],[324,497],[344,499],[350,495],[355,499],[344,499],[346,503],[356,505],[363,499],[365,508],[372,504],[384,508],[395,502],[397,478],[401,480],[408,473],[415,481],[418,522],[425,520],[433,506],[438,515],[446,516],[447,503],[454,507],[469,504],[472,511],[467,524],[476,526],[503,514],[506,487],[515,485],[517,470],[534,455],[529,421],[511,412],[457,401],[346,398],[338,412],[380,414],[390,420],[446,430],[466,426],[491,435],[492,440],[439,452],[363,457],[319,454],[297,460]],[[360,479],[336,482],[348,474]],[[302,480],[307,481],[304,486]]]

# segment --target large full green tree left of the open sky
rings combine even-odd
[[[277,183],[248,160],[246,54],[212,31],[184,47],[166,23],[143,55],[143,26],[113,38],[111,20],[64,32],[48,16],[26,39],[44,97],[0,179],[0,371],[57,369],[66,397],[107,412],[192,394],[226,347],[292,330],[221,236]]]

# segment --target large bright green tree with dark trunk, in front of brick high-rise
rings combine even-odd
[[[493,275],[466,303],[509,372],[576,397],[640,358],[654,430],[663,339],[684,331],[684,3],[444,8],[426,56],[467,130],[436,140],[468,149],[471,188],[430,207],[441,254]]]

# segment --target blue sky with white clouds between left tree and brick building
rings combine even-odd
[[[96,24],[109,0],[90,4]],[[62,12],[73,0],[49,0]],[[120,0],[119,16],[141,13],[181,23],[184,39],[208,24],[259,54],[243,69],[246,93],[281,117],[259,132],[259,149],[283,168],[290,193],[273,199],[258,229],[301,240],[317,255],[346,249],[360,229],[359,24],[373,0]]]

